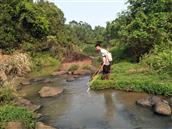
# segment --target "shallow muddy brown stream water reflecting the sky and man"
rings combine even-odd
[[[89,77],[73,82],[61,78],[49,84],[36,83],[27,86],[27,98],[43,105],[42,121],[58,129],[171,129],[170,117],[160,117],[151,109],[135,105],[147,94],[106,90],[87,93]],[[63,87],[65,92],[55,98],[40,98],[42,86]]]

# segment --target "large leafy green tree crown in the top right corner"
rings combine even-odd
[[[128,3],[128,10],[107,24],[106,38],[128,46],[136,61],[155,45],[170,45],[171,1],[128,0]]]

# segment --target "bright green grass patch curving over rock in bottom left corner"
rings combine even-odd
[[[33,114],[25,108],[11,105],[0,107],[0,127],[3,128],[7,122],[21,121],[27,128],[33,129],[35,118]]]

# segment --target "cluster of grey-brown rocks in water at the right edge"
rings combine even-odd
[[[143,107],[152,107],[153,111],[159,115],[170,116],[172,114],[172,98],[164,100],[158,96],[150,96],[137,100],[136,104]]]

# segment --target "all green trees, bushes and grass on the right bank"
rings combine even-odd
[[[91,88],[172,95],[172,1],[128,3],[128,10],[108,22],[105,31],[117,63],[112,65],[111,78],[104,81],[98,76]]]

